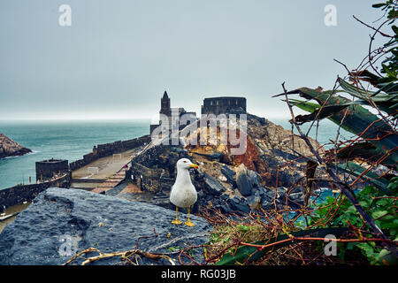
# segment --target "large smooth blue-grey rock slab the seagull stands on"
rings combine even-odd
[[[209,240],[211,226],[205,219],[191,216],[195,227],[188,227],[172,225],[174,218],[175,211],[157,205],[50,187],[0,233],[0,264],[64,264],[90,247],[105,253],[131,250],[139,237],[154,235],[154,229],[157,237],[142,238],[139,249],[170,254],[171,250]],[[187,215],[179,213],[179,218],[185,222]],[[178,253],[169,256],[179,264]],[[200,260],[201,254],[194,256]],[[81,262],[78,259],[73,264]],[[170,264],[165,259],[156,261],[143,256],[139,263]],[[126,263],[120,257],[112,257],[93,264]]]

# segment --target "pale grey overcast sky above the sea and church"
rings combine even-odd
[[[380,0],[2,0],[0,119],[149,118],[165,89],[200,113],[204,97],[246,96],[287,117],[288,89],[333,88],[366,55]],[[58,7],[72,8],[61,27]],[[337,26],[324,24],[325,5]]]

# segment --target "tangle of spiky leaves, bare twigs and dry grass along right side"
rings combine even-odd
[[[384,11],[379,27],[354,17],[372,32],[369,53],[356,69],[350,71],[336,60],[348,76],[338,77],[332,90],[287,91],[283,83],[284,92],[278,95],[284,97],[291,112],[292,135],[295,127],[310,154],[278,164],[275,188],[284,165],[304,161],[306,202],[300,209],[288,205],[280,209],[275,192],[273,209],[260,208],[244,218],[212,210],[206,214],[215,228],[206,247],[205,264],[397,263],[398,27],[394,22],[398,3],[389,0],[373,7]],[[390,33],[382,32],[387,26]],[[376,36],[387,42],[372,47]],[[380,70],[376,66],[379,62]],[[310,114],[295,116],[294,107]],[[309,140],[310,130],[302,133],[302,124],[311,123],[312,127],[321,119],[339,126],[331,141],[333,149],[319,150]],[[341,141],[340,128],[355,136]],[[297,153],[295,149],[291,152]],[[358,184],[364,185],[359,192]],[[325,187],[332,188],[333,194],[325,197]],[[294,189],[295,185],[287,195]],[[329,241],[337,246],[333,256],[325,251]]]

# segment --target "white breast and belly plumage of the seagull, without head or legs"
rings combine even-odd
[[[178,207],[189,207],[196,203],[196,200],[196,189],[191,182],[188,170],[177,172],[177,178],[170,193],[170,202]]]

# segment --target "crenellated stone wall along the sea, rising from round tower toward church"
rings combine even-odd
[[[72,171],[77,170],[95,161],[96,159],[102,157],[109,157],[112,154],[120,153],[128,149],[134,149],[149,142],[150,142],[150,135],[148,134],[132,140],[98,144],[97,146],[94,146],[92,152],[84,155],[82,159],[71,162],[69,164],[69,170]]]

